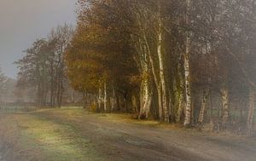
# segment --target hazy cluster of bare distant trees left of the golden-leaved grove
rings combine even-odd
[[[15,62],[20,70],[17,88],[35,90],[38,106],[61,107],[64,90],[68,89],[64,53],[72,36],[72,26],[58,26],[48,38],[34,42],[24,51],[26,55]],[[20,90],[16,93],[22,95]]]

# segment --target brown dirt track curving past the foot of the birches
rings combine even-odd
[[[108,115],[89,114],[82,110],[49,110],[17,115],[47,120],[58,126],[70,126],[72,138],[86,138],[97,158],[80,160],[145,161],[254,161],[256,141],[235,136],[210,135],[195,130],[168,129],[134,124]],[[65,131],[63,131],[65,133]],[[78,142],[79,144],[79,142]],[[89,147],[88,147],[89,148]],[[41,159],[45,160],[45,159]]]

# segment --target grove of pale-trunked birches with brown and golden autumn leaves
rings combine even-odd
[[[214,124],[230,126],[233,96],[253,100],[238,91],[254,89],[255,69],[247,64],[255,52],[254,3],[80,0],[77,33],[67,52],[69,80],[83,90],[93,86],[102,111],[113,111],[115,104],[120,111],[139,112],[138,118],[184,126],[208,121],[213,93],[221,105],[211,107],[211,117],[222,109]],[[249,112],[252,127],[253,107],[240,109]]]

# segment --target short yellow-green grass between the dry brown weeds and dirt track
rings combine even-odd
[[[20,153],[48,161],[98,160],[90,140],[70,124],[49,121],[40,115],[17,115]],[[19,154],[20,155],[20,154]]]

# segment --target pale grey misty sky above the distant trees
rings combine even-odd
[[[64,23],[75,24],[77,0],[0,0],[0,66],[10,78],[23,50]]]

